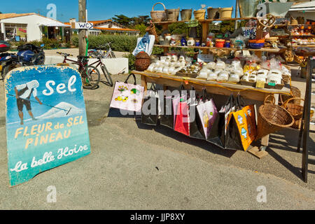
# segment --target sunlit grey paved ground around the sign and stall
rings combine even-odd
[[[15,188],[8,188],[1,94],[0,209],[315,209],[315,166],[304,183],[293,130],[272,135],[269,155],[258,160],[116,117],[106,85],[84,94],[92,153]],[[46,201],[48,186],[57,189],[56,203]],[[265,203],[257,201],[259,186]]]

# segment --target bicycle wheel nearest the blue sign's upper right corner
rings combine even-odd
[[[101,79],[101,74],[99,69],[95,66],[88,65],[81,72],[83,88],[88,90],[94,90],[99,86],[99,80]]]

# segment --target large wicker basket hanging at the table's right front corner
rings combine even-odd
[[[268,102],[270,98],[272,102]],[[268,95],[264,104],[260,106],[258,110],[257,137],[255,140],[293,125],[293,116],[283,107],[275,105],[275,101],[273,95]]]

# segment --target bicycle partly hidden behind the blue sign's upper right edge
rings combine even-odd
[[[78,56],[78,60],[74,61],[72,59],[68,59],[66,57],[73,56],[71,54],[57,52],[57,54],[62,55],[64,57],[64,61],[62,63],[72,62],[73,64],[78,65],[78,72],[80,73],[83,88],[88,90],[94,90],[99,87],[99,80],[101,79],[101,75],[97,67],[88,65],[89,57],[88,56]]]

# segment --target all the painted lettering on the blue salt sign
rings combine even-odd
[[[76,89],[71,89],[71,85],[73,85],[73,80],[75,82],[76,78],[71,77],[69,80],[69,90],[71,92],[76,91]],[[50,83],[46,83],[46,86],[48,87],[48,90],[50,92],[43,92],[45,95],[52,94],[53,90],[49,86]],[[52,83],[53,84],[53,83]],[[45,90],[44,90],[45,91]],[[60,88],[57,86],[57,92],[60,92]],[[68,139],[71,136],[71,130],[66,130],[70,127],[76,126],[76,125],[83,125],[84,120],[83,116],[75,116],[71,117],[67,120],[67,123],[57,123],[53,125],[51,122],[42,123],[38,125],[32,125],[30,128],[28,126],[26,127],[19,127],[17,130],[15,130],[15,136],[14,139],[18,139],[18,137],[28,137],[25,142],[25,150],[29,148],[29,146],[41,146],[43,144],[49,144],[52,142],[60,141],[62,139]],[[53,132],[55,130],[55,132]],[[45,134],[45,132],[50,132],[50,134]],[[57,159],[60,160],[63,157],[67,157],[69,155],[73,155],[76,153],[79,153],[81,151],[87,151],[88,147],[85,146],[75,146],[74,148],[65,147],[65,148],[59,148],[57,156]],[[52,152],[46,152],[43,155],[43,158],[36,161],[35,157],[33,158],[31,162],[31,168],[37,167],[39,165],[43,165],[48,162],[52,162],[55,160],[54,155],[52,155]],[[14,169],[10,169],[11,172],[21,172],[22,170],[28,169],[27,163],[22,163],[22,161],[19,161]]]

